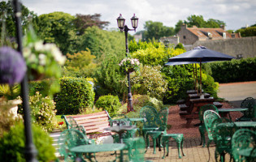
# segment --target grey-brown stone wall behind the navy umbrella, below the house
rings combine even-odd
[[[241,54],[242,58],[256,57],[256,36],[227,40],[197,40],[192,46],[187,46],[186,49],[190,50],[198,45],[206,46],[207,49],[225,53],[235,58]]]

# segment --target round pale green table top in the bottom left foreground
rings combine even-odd
[[[96,153],[101,151],[119,151],[125,147],[124,143],[102,143],[102,144],[88,144],[72,147],[70,151],[76,153]]]

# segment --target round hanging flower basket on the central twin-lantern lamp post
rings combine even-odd
[[[136,72],[140,70],[140,62],[137,58],[124,58],[119,63],[121,71],[132,72],[135,70]]]

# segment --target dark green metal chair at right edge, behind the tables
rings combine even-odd
[[[247,97],[245,100],[241,102],[241,108],[248,108],[247,111],[241,112],[243,113],[243,116],[240,118],[237,118],[236,121],[241,122],[241,121],[251,121],[254,118],[254,105],[255,105],[255,100],[253,97]]]

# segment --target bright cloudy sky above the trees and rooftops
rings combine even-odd
[[[179,20],[190,15],[202,15],[205,20],[219,19],[226,30],[237,30],[256,23],[256,0],[20,0],[37,15],[63,11],[71,15],[101,14],[110,22],[108,29],[117,28],[116,19],[122,14],[128,28],[135,14],[139,18],[137,31],[144,30],[146,21],[161,22],[175,28]],[[131,33],[131,32],[129,32]],[[132,34],[132,33],[131,33]]]

